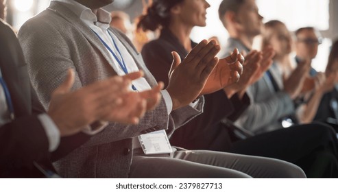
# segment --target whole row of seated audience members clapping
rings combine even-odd
[[[110,28],[126,15],[101,9],[109,3],[53,0],[21,27],[20,45],[1,21],[1,177],[338,177],[335,130],[313,122],[335,120],[317,110],[337,105],[337,43],[315,73],[315,29],[296,32],[292,64],[284,23],[263,25],[254,0],[224,0],[230,54],[219,59],[215,40],[189,38],[206,25],[206,1],[154,0],[136,31],[160,35],[135,48]],[[142,138],[155,131],[178,147],[147,154]]]

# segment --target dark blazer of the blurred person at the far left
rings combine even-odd
[[[15,120],[0,128],[0,176],[40,177],[33,161],[51,168],[48,139],[34,112],[41,110],[31,89],[23,52],[12,29],[0,22],[0,68],[8,85]],[[32,106],[37,106],[32,110]]]

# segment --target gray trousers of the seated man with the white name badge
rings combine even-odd
[[[132,158],[130,178],[306,178],[300,167],[274,158],[206,150]]]

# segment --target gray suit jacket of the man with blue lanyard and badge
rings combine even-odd
[[[142,56],[130,40],[111,29],[128,49],[145,79],[154,86],[156,80],[147,70]],[[52,1],[47,10],[27,21],[19,31],[29,75],[45,108],[51,92],[64,80],[69,68],[75,69],[74,89],[116,75],[113,60],[106,47],[67,6]],[[147,112],[138,125],[109,123],[82,147],[75,149],[54,165],[67,178],[126,178],[132,163],[132,137],[156,130],[170,135],[181,125],[202,112],[204,99],[197,108],[189,106],[167,115],[164,99]]]

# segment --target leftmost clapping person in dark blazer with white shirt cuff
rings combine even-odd
[[[50,177],[52,156],[67,155],[90,139],[99,130],[86,128],[95,128],[95,122],[137,123],[144,115],[147,97],[128,91],[130,81],[141,73],[110,77],[70,91],[75,73],[68,71],[45,112],[31,88],[19,42],[1,19],[0,47],[0,178]],[[158,92],[150,95],[159,97]],[[66,150],[58,152],[61,148]]]

